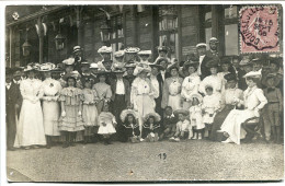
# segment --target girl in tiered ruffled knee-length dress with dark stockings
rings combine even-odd
[[[67,88],[62,89],[59,101],[61,102],[61,118],[59,130],[66,139],[62,148],[75,146],[76,132],[84,130],[82,120],[82,91],[76,88],[76,78],[67,77]]]

